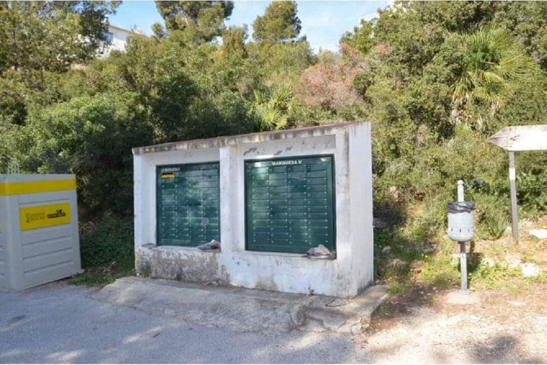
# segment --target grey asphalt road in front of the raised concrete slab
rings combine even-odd
[[[0,293],[0,363],[376,362],[350,335],[237,333],[98,302],[51,283]]]

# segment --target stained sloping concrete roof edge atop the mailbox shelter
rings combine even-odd
[[[253,142],[265,142],[272,140],[286,140],[288,138],[303,138],[303,137],[317,137],[325,135],[333,135],[335,132],[347,129],[348,126],[370,123],[367,121],[352,121],[341,122],[335,124],[326,124],[306,128],[284,129],[278,131],[258,132],[245,135],[235,136],[222,136],[213,138],[203,138],[201,140],[190,140],[180,142],[169,142],[163,144],[155,144],[153,146],[135,147],[133,148],[133,155],[140,155],[145,153],[155,152],[169,152],[183,149],[196,149],[196,148],[214,148],[231,146],[236,143],[253,143]]]

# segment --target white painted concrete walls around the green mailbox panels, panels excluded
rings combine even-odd
[[[356,296],[373,281],[370,123],[212,138],[133,153],[137,274],[337,297]],[[246,251],[245,160],[313,154],[334,156],[337,258]],[[156,166],[213,161],[220,163],[222,252],[156,246]]]

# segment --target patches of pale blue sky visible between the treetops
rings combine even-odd
[[[252,35],[252,23],[257,15],[264,14],[269,1],[235,1],[234,11],[227,25],[249,26]],[[352,31],[359,19],[371,19],[377,8],[385,8],[387,1],[298,1],[298,16],[302,21],[300,35],[306,34],[313,50],[319,48],[338,50],[338,41],[344,32]],[[132,28],[137,26],[145,34],[150,34],[150,26],[156,21],[162,23],[161,16],[153,1],[124,1],[110,23]]]

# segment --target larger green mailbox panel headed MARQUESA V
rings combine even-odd
[[[331,155],[246,161],[246,249],[334,250],[333,171]]]

